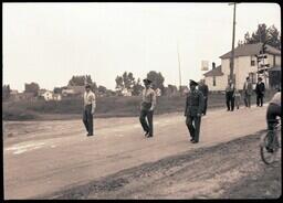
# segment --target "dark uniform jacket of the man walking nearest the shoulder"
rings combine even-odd
[[[205,100],[203,95],[200,90],[195,89],[190,90],[186,100],[186,116],[197,116],[197,114],[201,114],[203,110]]]

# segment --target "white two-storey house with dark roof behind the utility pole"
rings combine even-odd
[[[276,50],[266,44],[266,51],[264,58],[264,64],[269,64],[268,68],[275,66],[281,67],[281,51]],[[258,82],[258,71],[262,70],[261,64],[259,63],[255,55],[260,54],[262,50],[262,43],[256,44],[244,44],[234,49],[234,82],[238,89],[243,88],[245,77],[250,76],[250,79],[253,84]],[[206,84],[209,86],[209,90],[224,90],[230,78],[230,57],[231,52],[228,52],[220,56],[221,65],[212,67],[211,71],[205,73]],[[269,86],[269,75],[268,72],[259,74],[263,78],[263,82]]]

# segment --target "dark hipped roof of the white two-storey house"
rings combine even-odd
[[[262,44],[263,43],[243,44],[243,45],[237,46],[234,49],[234,57],[260,54],[260,51],[262,50]],[[280,50],[277,50],[269,44],[266,44],[266,53],[274,54],[274,55],[281,55]],[[220,56],[221,60],[230,58],[230,57],[231,57],[231,52],[228,52]]]

